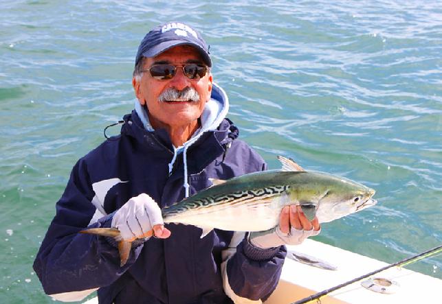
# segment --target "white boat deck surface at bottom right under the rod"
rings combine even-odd
[[[337,266],[338,270],[324,270],[286,259],[278,288],[265,304],[294,303],[388,265],[383,261],[357,255],[311,239],[306,239],[299,246],[288,246],[288,249],[327,261]],[[383,283],[387,281],[380,281],[382,284],[375,284],[373,287],[379,287],[379,289],[384,287],[386,291],[394,293],[382,294],[368,290],[362,287],[361,281],[359,281],[336,290],[329,296],[324,296],[320,299],[320,303],[391,304],[438,303],[440,301],[438,299],[442,290],[441,279],[397,267],[379,272],[373,278],[393,281],[393,285],[390,286],[388,283]],[[317,301],[311,303],[317,303]]]

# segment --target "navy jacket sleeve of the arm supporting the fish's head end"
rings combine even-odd
[[[260,169],[267,169],[263,161]],[[235,304],[262,303],[278,285],[286,255],[285,246],[256,248],[248,241],[248,233],[234,233],[230,245],[223,250],[221,273],[225,294]]]

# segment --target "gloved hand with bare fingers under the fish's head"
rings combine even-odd
[[[307,237],[318,235],[320,229],[318,218],[310,222],[300,206],[292,204],[281,211],[279,226],[267,231],[250,233],[250,242],[263,249],[281,245],[298,245]]]

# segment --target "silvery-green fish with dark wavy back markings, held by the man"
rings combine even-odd
[[[283,207],[299,205],[308,220],[331,222],[371,207],[375,190],[349,178],[305,171],[292,159],[278,156],[279,170],[254,172],[230,180],[210,179],[212,186],[162,209],[165,224],[186,224],[202,229],[201,238],[213,229],[267,231],[278,225]],[[129,259],[131,242],[115,228],[80,231],[114,237],[121,266]],[[144,237],[150,237],[149,231]]]

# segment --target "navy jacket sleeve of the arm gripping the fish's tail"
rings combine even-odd
[[[111,216],[103,218],[104,209],[97,208],[92,201],[96,203],[98,198],[89,180],[87,164],[80,160],[56,204],[56,215],[34,261],[43,289],[55,299],[81,300],[118,279],[140,254],[142,246],[133,250],[135,254],[131,253],[128,263],[121,268],[117,248],[105,237],[78,233],[87,226],[110,226]]]

